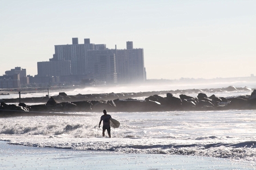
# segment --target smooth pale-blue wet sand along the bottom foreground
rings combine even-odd
[[[7,144],[0,141],[1,169],[255,169],[248,161],[214,157],[120,154]]]

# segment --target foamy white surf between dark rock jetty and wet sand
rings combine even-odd
[[[0,140],[36,147],[256,160],[255,110],[109,113],[113,138],[88,117],[1,118]],[[86,113],[84,113],[86,114]],[[255,142],[255,143],[254,143]]]

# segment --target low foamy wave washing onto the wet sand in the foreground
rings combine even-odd
[[[2,135],[1,135],[2,136]],[[7,138],[13,138],[6,135]],[[73,150],[112,151],[132,154],[169,154],[187,156],[219,157],[234,160],[256,161],[256,141],[245,141],[239,143],[191,143],[170,144],[167,139],[155,139],[148,141],[143,138],[78,138],[71,139],[68,134],[49,136],[38,136],[39,140],[19,141],[15,139],[0,138],[10,141],[9,144],[19,144],[33,147],[54,147]],[[75,142],[76,141],[76,142]]]

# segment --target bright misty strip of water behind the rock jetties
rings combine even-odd
[[[67,95],[77,94],[100,94],[100,93],[137,93],[137,92],[152,92],[161,90],[186,90],[186,89],[212,89],[212,88],[227,88],[228,86],[235,86],[238,88],[244,88],[245,86],[254,89],[256,88],[256,82],[218,82],[214,84],[166,84],[166,83],[155,83],[155,84],[133,84],[133,85],[116,85],[116,86],[88,86],[85,88],[77,88],[74,90],[62,90],[53,91],[49,88],[49,96],[58,96],[59,92],[65,92]],[[249,92],[226,92],[215,93],[217,96],[227,97],[237,95],[247,95]],[[47,92],[37,93],[22,93],[22,98],[28,97],[42,97],[46,96]],[[175,94],[174,94],[175,96]],[[191,94],[191,96],[197,96],[197,94]],[[0,95],[2,98],[18,98],[19,94],[14,93],[10,95]]]

